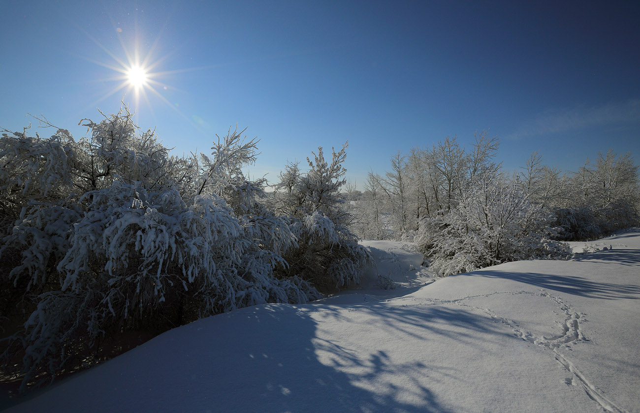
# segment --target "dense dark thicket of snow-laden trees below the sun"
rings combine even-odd
[[[345,148],[331,162],[319,148],[307,173],[288,166],[269,198],[243,174],[257,144],[244,131],[174,157],[127,109],[83,121],[79,141],[0,140],[1,359],[22,389],[109,357],[131,332],[358,281],[369,255],[340,208]]]

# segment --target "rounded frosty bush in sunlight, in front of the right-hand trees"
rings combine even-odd
[[[506,261],[569,258],[567,245],[550,240],[550,220],[514,182],[484,174],[456,208],[423,219],[415,242],[442,276]]]

